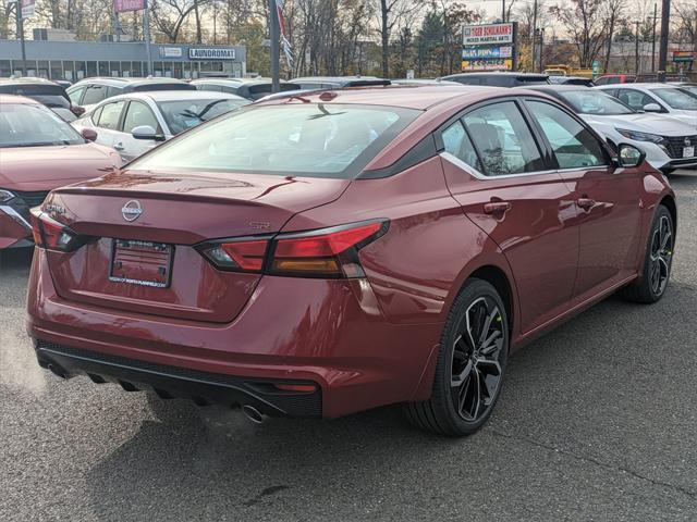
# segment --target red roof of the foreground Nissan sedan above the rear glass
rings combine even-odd
[[[367,105],[402,107],[427,110],[432,105],[453,98],[469,96],[487,98],[491,92],[510,94],[505,87],[477,85],[394,85],[384,87],[346,87],[331,90],[310,90],[306,95],[295,95],[264,101],[259,104],[303,103],[356,103]]]

